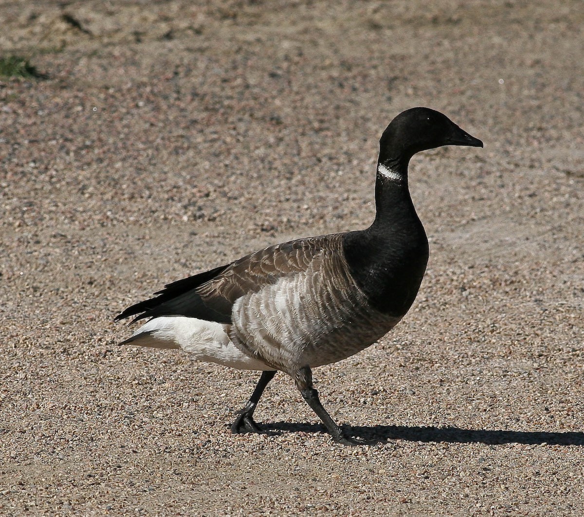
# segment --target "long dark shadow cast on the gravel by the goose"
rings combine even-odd
[[[283,432],[325,432],[319,424],[290,424],[273,422],[262,424],[269,433]],[[503,445],[505,443],[522,443],[524,445],[584,445],[584,433],[548,432],[548,431],[492,431],[486,429],[460,429],[457,427],[419,427],[404,425],[341,426],[349,436],[358,436],[367,442],[387,443],[390,440],[409,440],[411,442],[447,442],[447,443],[485,443],[486,445]]]

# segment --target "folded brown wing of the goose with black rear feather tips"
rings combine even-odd
[[[283,276],[308,268],[312,259],[326,248],[339,250],[341,235],[322,235],[284,242],[232,262],[165,286],[158,296],[128,307],[116,320],[138,314],[136,320],[165,315],[189,316],[231,323],[235,300],[255,293]],[[140,314],[141,313],[141,314]]]

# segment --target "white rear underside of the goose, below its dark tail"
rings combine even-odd
[[[150,348],[180,348],[196,360],[239,370],[273,370],[241,352],[227,335],[227,327],[229,325],[215,321],[164,316],[142,325],[126,343]]]

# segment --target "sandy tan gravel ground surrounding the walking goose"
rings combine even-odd
[[[583,515],[584,15],[576,0],[0,4],[0,515]],[[77,22],[77,23],[74,23]],[[408,107],[484,149],[411,164],[404,321],[276,377],[120,348],[112,319],[267,244],[363,228]]]

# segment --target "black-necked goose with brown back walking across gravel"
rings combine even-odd
[[[411,307],[429,249],[408,189],[408,164],[417,152],[443,145],[483,147],[436,110],[399,113],[380,139],[369,228],[272,245],[169,283],[117,315],[116,321],[134,316],[131,323],[150,318],[120,345],[182,349],[204,362],[261,371],[234,433],[267,434],[253,412],[280,371],[336,442],[364,443],[325,410],[312,369],[367,348]]]

